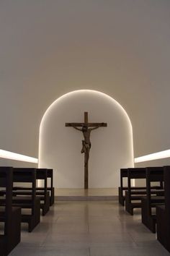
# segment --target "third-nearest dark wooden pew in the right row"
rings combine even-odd
[[[133,189],[131,186],[132,179],[146,179],[146,168],[128,168],[128,190],[125,191],[125,210],[131,215],[133,215],[133,209],[141,208],[141,197],[146,195],[146,189]],[[151,194],[159,195],[159,189],[162,189],[162,182],[160,182],[160,186],[151,187]]]

